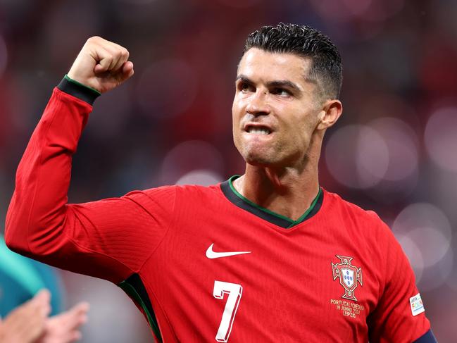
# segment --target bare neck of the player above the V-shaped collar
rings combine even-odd
[[[318,195],[318,158],[301,168],[270,168],[246,164],[246,173],[234,180],[237,191],[254,204],[297,220]]]

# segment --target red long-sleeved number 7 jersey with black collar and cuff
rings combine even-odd
[[[6,221],[11,249],[120,285],[161,342],[431,335],[392,232],[324,189],[295,221],[242,197],[234,177],[67,204],[71,157],[94,96],[68,80],[59,88],[18,168]]]

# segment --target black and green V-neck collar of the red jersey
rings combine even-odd
[[[303,223],[303,221],[311,218],[315,215],[315,213],[318,213],[320,207],[322,206],[324,192],[321,188],[319,188],[318,195],[314,198],[311,206],[305,211],[305,213],[303,213],[303,215],[300,216],[300,218],[292,220],[291,218],[287,218],[286,216],[270,211],[268,208],[258,206],[249,199],[243,197],[242,194],[239,194],[237,189],[233,187],[233,181],[239,176],[240,175],[233,175],[230,179],[220,184],[220,189],[225,197],[227,197],[232,204],[243,208],[245,211],[251,212],[254,216],[258,216],[272,224],[283,227],[284,229],[289,229],[290,227]]]

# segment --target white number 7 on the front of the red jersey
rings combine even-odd
[[[239,305],[239,300],[242,298],[243,287],[237,283],[222,282],[215,280],[213,297],[224,299],[224,294],[228,294],[227,302],[225,303],[224,313],[220,320],[218,334],[215,340],[218,342],[227,342],[230,332],[232,332],[233,320]]]

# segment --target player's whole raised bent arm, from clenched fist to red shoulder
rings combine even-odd
[[[168,227],[174,201],[173,189],[151,189],[67,204],[72,156],[92,103],[133,75],[128,56],[118,44],[87,40],[32,134],[6,216],[10,249],[112,282],[124,280],[148,258]]]

